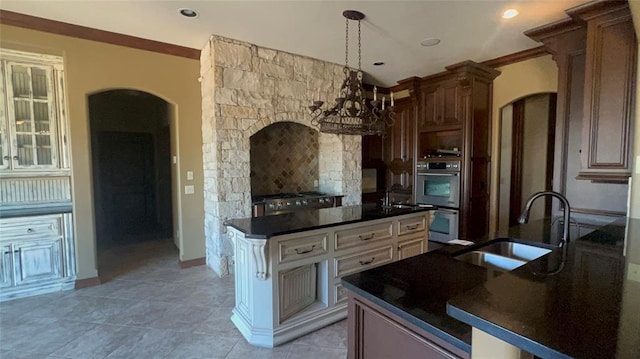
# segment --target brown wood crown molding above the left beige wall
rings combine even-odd
[[[197,49],[73,25],[12,11],[0,10],[0,24],[200,60],[200,50]]]

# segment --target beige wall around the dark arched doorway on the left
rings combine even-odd
[[[181,231],[177,241],[181,260],[203,257],[199,61],[7,25],[0,25],[0,32],[3,47],[64,56],[78,279],[98,274],[87,96],[107,89],[138,89],[174,105],[171,151],[179,159],[173,170],[174,231]],[[187,184],[187,170],[194,172],[189,184],[195,185],[195,195],[179,190]]]

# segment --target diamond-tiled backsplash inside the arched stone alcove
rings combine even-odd
[[[278,122],[251,136],[251,195],[298,193],[318,187],[318,131]]]

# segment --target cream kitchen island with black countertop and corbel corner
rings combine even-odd
[[[273,347],[344,319],[341,278],[426,252],[432,209],[343,206],[227,221],[231,320],[249,343]]]

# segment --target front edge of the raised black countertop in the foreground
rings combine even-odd
[[[532,353],[542,358],[572,359],[572,357],[555,351],[529,338],[525,338],[488,320],[475,316],[462,309],[447,303],[447,314],[465,324],[490,334],[519,349]],[[473,339],[472,339],[473,341]]]

